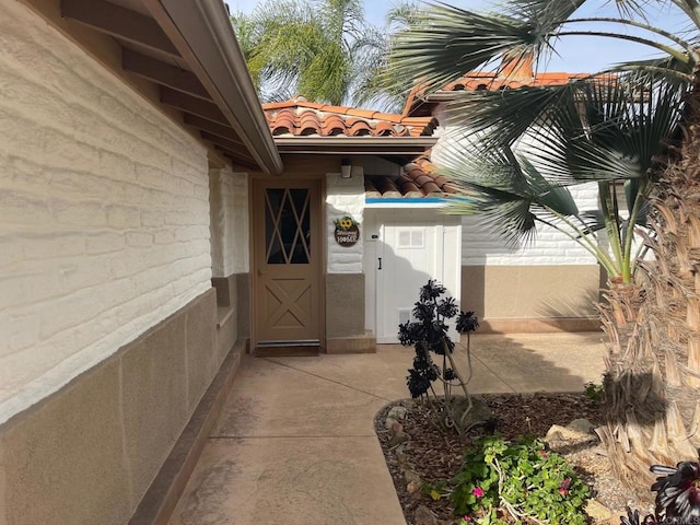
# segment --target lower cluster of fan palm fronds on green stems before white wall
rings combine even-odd
[[[629,284],[663,141],[680,120],[682,89],[653,82],[640,91],[606,75],[467,95],[472,107],[458,114],[465,127],[433,153],[442,173],[462,186],[447,212],[479,215],[512,244],[532,240],[538,226],[552,228],[590,252],[608,279]],[[524,121],[530,122],[524,131],[514,128]],[[591,184],[599,207],[580,210],[571,188]]]

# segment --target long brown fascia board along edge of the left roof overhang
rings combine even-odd
[[[143,0],[260,168],[282,173],[280,153],[221,0]]]

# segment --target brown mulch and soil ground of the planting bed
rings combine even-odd
[[[552,424],[565,427],[580,418],[587,419],[595,427],[603,421],[599,404],[583,395],[485,395],[483,399],[493,413],[495,430],[509,440],[521,434],[544,438]],[[399,402],[406,404],[406,401],[397,404]],[[454,515],[450,502],[446,499],[433,501],[420,490],[415,491],[415,487],[411,489],[406,480],[405,470],[409,468],[423,481],[451,479],[459,468],[462,450],[468,443],[469,436],[459,439],[456,435],[444,435],[430,423],[430,415],[424,407],[411,402],[406,405],[410,408],[406,420],[402,421],[402,427],[410,436],[410,441],[404,445],[389,446],[392,432],[384,428],[384,422],[390,407],[382,410],[375,420],[377,436],[394,478],[394,486],[404,508],[406,521],[408,525],[417,525],[416,510],[424,505],[439,520],[451,523],[454,521]],[[595,501],[610,511],[612,520],[592,516],[592,524],[619,523],[617,518],[626,514],[627,506],[641,511],[651,509],[651,500],[640,502],[617,482],[595,434],[592,433],[590,439],[575,443],[555,441],[550,446],[575,466],[583,479],[592,487]]]

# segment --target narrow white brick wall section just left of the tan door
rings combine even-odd
[[[209,173],[211,257],[214,277],[247,273],[248,176],[230,167]]]

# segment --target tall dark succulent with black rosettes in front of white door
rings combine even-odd
[[[479,327],[474,312],[460,312],[453,298],[443,298],[446,289],[430,279],[420,289],[419,301],[415,303],[412,314],[416,320],[408,320],[398,327],[399,342],[416,350],[413,368],[408,370],[406,384],[412,398],[425,397],[438,407],[440,423],[443,429],[454,429],[464,433],[475,423],[471,421],[474,402],[467,389],[471,378],[471,355],[469,334]],[[466,377],[459,372],[455,361],[455,343],[447,335],[447,319],[457,316],[456,328],[459,334],[467,335],[467,371]],[[433,362],[431,354],[442,358],[442,365]],[[443,394],[439,395],[433,383],[439,381]],[[463,396],[455,396],[453,389],[460,390]],[[480,422],[480,421],[478,421]]]

